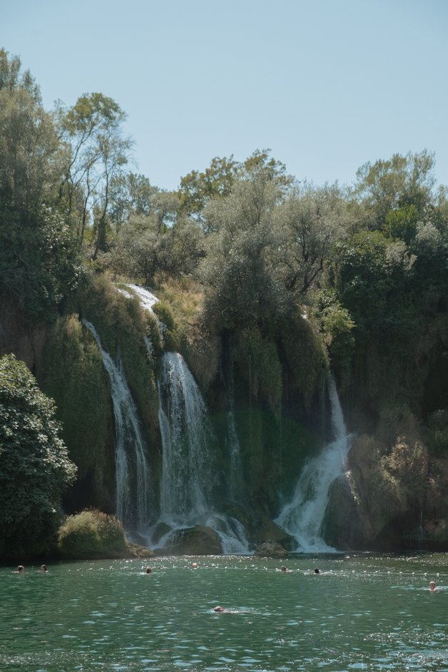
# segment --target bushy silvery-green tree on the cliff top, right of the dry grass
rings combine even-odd
[[[203,210],[211,235],[200,277],[206,320],[218,330],[269,321],[285,308],[275,266],[275,209],[281,198],[277,173],[260,161],[235,183],[230,195],[213,198]]]

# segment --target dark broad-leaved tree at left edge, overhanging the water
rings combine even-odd
[[[59,437],[54,402],[24,362],[0,359],[0,554],[46,552],[61,497],[76,475]]]

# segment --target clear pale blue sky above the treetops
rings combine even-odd
[[[0,0],[0,46],[48,109],[113,98],[160,188],[265,148],[317,185],[427,149],[448,185],[448,0]]]

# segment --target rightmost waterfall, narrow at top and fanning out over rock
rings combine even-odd
[[[325,544],[320,536],[320,529],[328,504],[330,485],[345,474],[350,436],[345,429],[342,408],[332,376],[328,379],[328,395],[333,440],[325,446],[320,455],[307,461],[300,474],[292,501],[284,506],[274,521],[295,537],[297,551],[302,552],[335,550]]]

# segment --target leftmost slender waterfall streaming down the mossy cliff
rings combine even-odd
[[[143,534],[148,525],[150,472],[136,405],[131,397],[118,353],[118,365],[103,350],[95,327],[82,323],[92,333],[111,381],[116,440],[116,516],[128,531]]]

